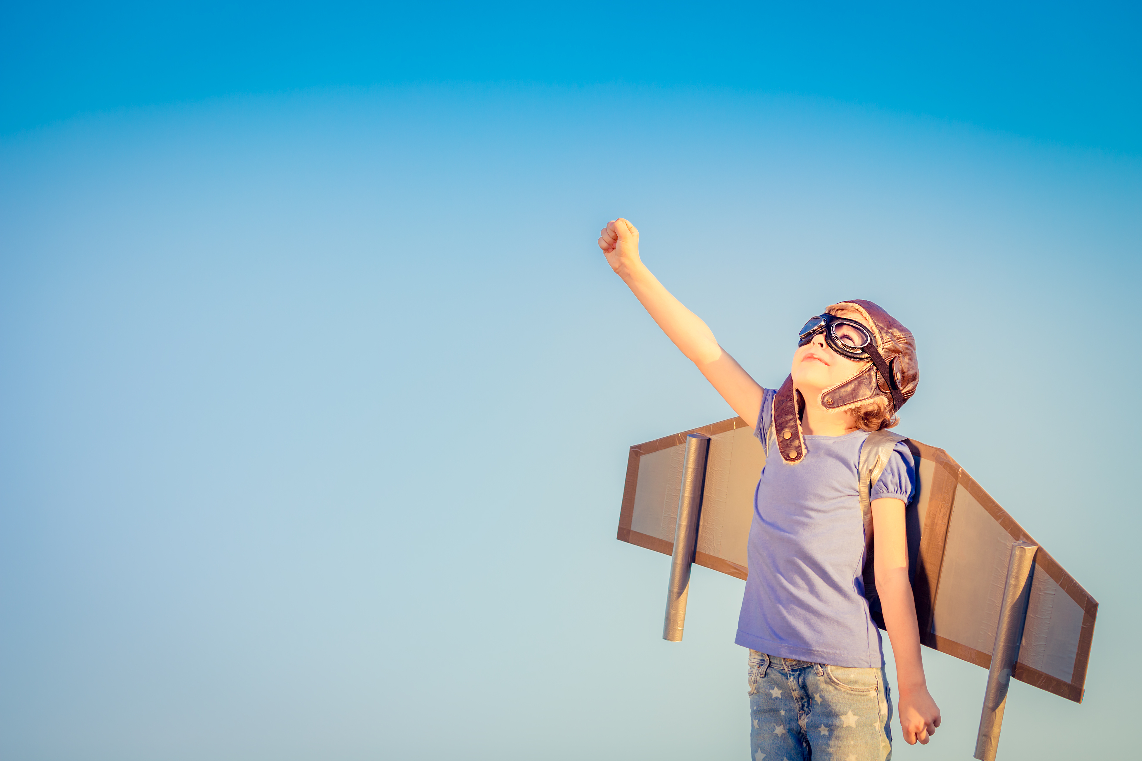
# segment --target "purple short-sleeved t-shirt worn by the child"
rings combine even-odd
[[[755,436],[770,422],[774,394],[765,390]],[[866,431],[806,436],[799,463],[766,458],[754,493],[738,645],[834,666],[884,664],[862,578],[858,463],[866,438]],[[870,497],[907,503],[915,468],[908,447],[896,444]]]

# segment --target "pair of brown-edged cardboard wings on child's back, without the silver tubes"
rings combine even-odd
[[[618,539],[671,554],[690,434],[710,437],[693,561],[746,578],[754,489],[765,452],[741,418],[632,446]],[[1012,545],[1038,543],[947,452],[907,443],[919,486],[907,523],[920,641],[989,669]],[[1040,547],[1012,675],[1081,702],[1097,609]]]

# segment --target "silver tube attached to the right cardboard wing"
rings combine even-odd
[[[988,688],[983,694],[983,713],[980,717],[980,732],[975,737],[975,758],[995,761],[999,750],[999,729],[1003,712],[1007,705],[1007,686],[1011,672],[1019,659],[1019,643],[1023,639],[1023,623],[1027,620],[1027,602],[1031,597],[1031,575],[1035,570],[1035,552],[1039,548],[1028,542],[1015,542],[1007,562],[1007,582],[999,606],[999,623],[996,641],[991,648],[991,669],[988,670]]]

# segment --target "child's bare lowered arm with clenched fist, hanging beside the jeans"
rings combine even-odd
[[[908,582],[908,537],[904,503],[893,497],[872,500],[872,567],[884,625],[896,658],[896,713],[904,742],[926,745],[940,726],[940,709],[927,691],[920,659],[916,600]]]

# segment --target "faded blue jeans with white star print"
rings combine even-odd
[[[892,701],[884,669],[843,669],[749,651],[753,761],[886,761]]]

